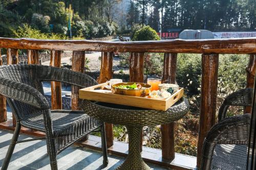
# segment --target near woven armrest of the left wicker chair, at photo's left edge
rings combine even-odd
[[[42,110],[50,109],[50,106],[44,95],[42,95],[35,88],[24,83],[1,77],[0,93],[7,98],[32,105]]]

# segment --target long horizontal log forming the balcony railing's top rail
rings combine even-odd
[[[0,48],[33,50],[70,50],[133,53],[198,53],[252,54],[256,53],[256,38],[199,39],[169,41],[91,41],[40,40],[29,38],[1,38]]]

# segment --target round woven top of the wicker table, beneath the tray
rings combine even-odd
[[[88,115],[102,122],[125,126],[155,126],[179,120],[188,112],[189,104],[187,99],[181,98],[166,111],[161,111],[84,100],[82,107]]]

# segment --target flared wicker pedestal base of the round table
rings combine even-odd
[[[141,158],[140,138],[143,127],[127,127],[129,136],[129,154],[125,161],[117,168],[117,170],[150,170]]]

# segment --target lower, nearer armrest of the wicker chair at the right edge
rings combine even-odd
[[[251,114],[227,117],[211,128],[204,139],[200,169],[210,169],[216,144],[248,144],[250,118]]]

